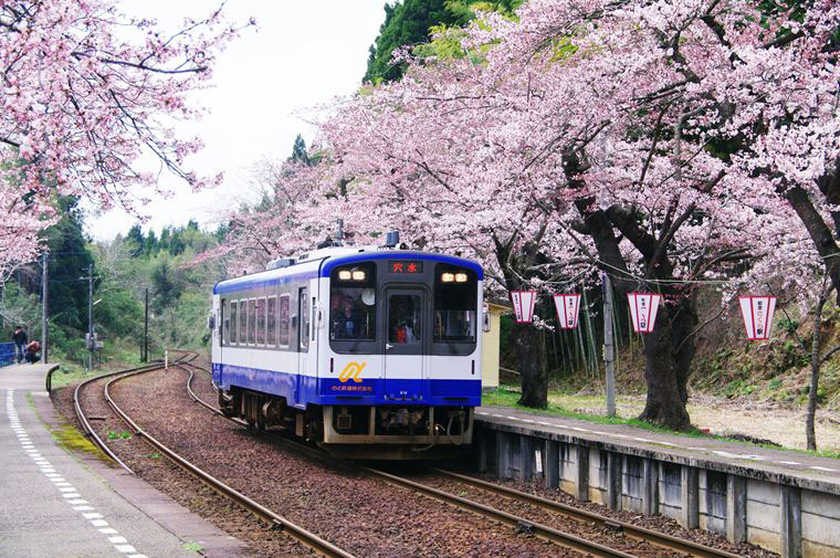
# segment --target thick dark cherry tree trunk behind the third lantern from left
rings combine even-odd
[[[639,417],[641,420],[673,430],[685,430],[691,425],[685,404],[694,343],[691,337],[685,338],[687,334],[683,330],[692,323],[696,323],[696,314],[691,302],[680,304],[675,312],[664,304],[660,306],[657,327],[644,336],[648,398]]]

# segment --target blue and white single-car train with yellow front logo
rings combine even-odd
[[[484,272],[451,255],[328,246],[213,287],[224,414],[347,459],[462,454],[481,406]]]

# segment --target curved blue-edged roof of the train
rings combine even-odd
[[[292,283],[315,278],[328,277],[336,265],[353,262],[366,262],[369,260],[414,259],[431,260],[435,262],[451,263],[473,270],[479,280],[484,278],[484,270],[477,263],[464,257],[439,254],[434,252],[419,252],[411,250],[392,250],[379,246],[335,246],[314,250],[301,254],[296,259],[288,259],[285,265],[251,273],[239,277],[220,281],[213,287],[213,294],[228,293],[244,287],[260,287],[269,284]],[[282,260],[275,260],[280,262]],[[272,263],[274,263],[272,262]]]

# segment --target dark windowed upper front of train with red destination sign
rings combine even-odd
[[[329,339],[336,352],[379,354],[387,346],[401,354],[469,355],[476,335],[473,270],[380,260],[330,273]]]

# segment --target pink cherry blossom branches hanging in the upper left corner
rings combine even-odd
[[[139,214],[145,192],[168,193],[159,171],[137,165],[143,156],[193,189],[220,180],[185,168],[201,141],[174,126],[200,116],[189,94],[209,84],[241,28],[219,8],[165,32],[116,6],[0,1],[0,270],[34,255],[56,196]]]

